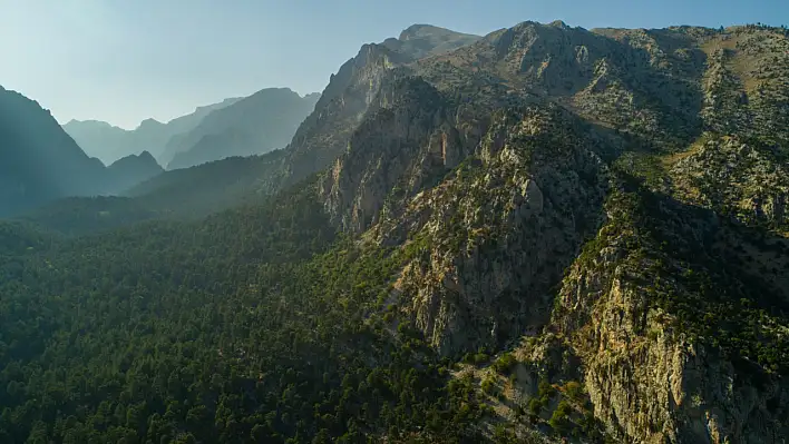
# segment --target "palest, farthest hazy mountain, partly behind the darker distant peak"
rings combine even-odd
[[[97,120],[71,120],[64,125],[64,130],[88,155],[101,159],[106,165],[143,151],[148,151],[160,160],[164,147],[172,137],[192,130],[212,111],[231,106],[238,100],[241,98],[231,98],[218,103],[198,107],[194,112],[173,119],[167,124],[146,119],[134,130],[126,130]]]

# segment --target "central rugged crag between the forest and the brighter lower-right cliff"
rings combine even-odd
[[[547,320],[551,287],[600,223],[607,187],[581,134],[556,109],[500,112],[474,156],[373,228],[380,243],[405,241],[400,309],[441,354],[498,347]]]

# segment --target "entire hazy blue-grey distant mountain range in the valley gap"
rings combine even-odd
[[[128,131],[107,122],[71,120],[64,125],[87,154],[105,162],[150,152],[167,169],[283,148],[312,112],[319,93],[303,98],[288,88],[266,88],[197,108],[167,124],[144,120]]]

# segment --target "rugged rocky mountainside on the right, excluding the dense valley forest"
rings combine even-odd
[[[284,184],[328,168],[337,226],[405,257],[402,322],[449,357],[510,348],[513,411],[573,383],[583,433],[781,442],[785,31],[525,22],[449,52],[411,33],[345,63],[283,158]]]

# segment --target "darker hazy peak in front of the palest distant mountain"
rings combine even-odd
[[[318,93],[302,98],[288,88],[263,89],[171,139],[163,159],[172,157],[167,169],[178,169],[284,148],[319,98]]]

